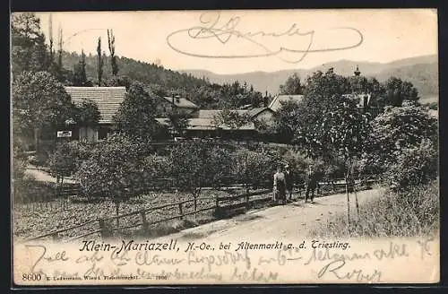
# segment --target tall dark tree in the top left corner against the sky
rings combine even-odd
[[[40,20],[34,13],[14,13],[11,23],[11,61],[13,75],[23,71],[47,70],[47,47],[40,29]]]

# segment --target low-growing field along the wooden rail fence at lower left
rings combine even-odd
[[[226,197],[232,195],[238,195],[243,193],[239,190],[229,191],[204,191],[200,195],[202,198],[197,203],[197,210],[213,207],[214,198]],[[251,201],[257,199],[265,199],[267,195],[258,195],[251,197]],[[208,198],[208,199],[203,199]],[[119,214],[125,214],[128,212],[141,211],[143,209],[151,209],[153,207],[165,205],[168,203],[178,203],[188,199],[194,199],[193,195],[185,193],[153,193],[150,195],[142,195],[139,198],[131,199],[125,203],[120,203]],[[227,201],[223,204],[232,203]],[[110,219],[116,215],[116,205],[110,201],[103,201],[100,203],[66,203],[65,209],[48,209],[47,206],[37,207],[33,210],[29,210],[23,204],[17,204],[13,208],[13,236],[17,240],[34,238],[40,235],[47,234],[60,229],[66,229],[83,223],[91,221],[90,224],[83,226],[79,229],[71,229],[63,234],[61,238],[74,238],[82,236],[82,234],[98,230],[98,219],[105,219],[106,224],[110,228],[116,228],[116,220]],[[53,205],[57,206],[57,205]],[[60,205],[59,205],[60,207]],[[194,212],[194,203],[185,203],[183,208],[184,213]],[[214,210],[211,209],[205,212],[199,212],[196,216],[191,215],[183,218],[183,220],[168,220],[162,221],[158,225],[151,226],[151,230],[145,237],[156,237],[173,232],[177,232],[181,229],[194,227],[198,224],[215,220]],[[165,220],[170,217],[179,215],[177,206],[171,206],[164,209],[147,212],[147,219],[151,221]],[[125,217],[119,220],[119,227],[132,226],[141,221],[139,215]],[[141,234],[140,229],[123,229],[116,232],[116,236],[137,236]],[[149,236],[148,236],[149,235]],[[94,237],[92,235],[91,237]]]

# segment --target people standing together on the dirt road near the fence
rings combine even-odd
[[[314,203],[314,192],[317,188],[317,177],[313,169],[313,165],[308,167],[306,172],[306,192],[305,192],[305,202],[310,198],[310,202]],[[284,168],[280,165],[277,168],[277,172],[274,174],[274,184],[273,184],[273,194],[272,200],[274,202],[281,202],[283,204],[288,201],[292,201],[292,190],[294,188],[294,177],[289,165],[287,164]],[[288,192],[288,193],[287,193]],[[288,194],[288,199],[287,199]]]

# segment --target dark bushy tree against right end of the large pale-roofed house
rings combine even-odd
[[[159,132],[155,111],[155,98],[144,90],[142,83],[135,82],[114,117],[116,129],[131,136],[151,139]]]

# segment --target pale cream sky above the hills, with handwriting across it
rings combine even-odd
[[[213,73],[308,69],[340,59],[388,63],[437,54],[437,14],[431,9],[251,10],[36,13],[64,49],[108,54],[172,70]]]

